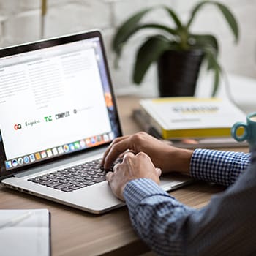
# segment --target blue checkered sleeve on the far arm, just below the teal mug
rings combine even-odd
[[[249,166],[250,158],[251,154],[243,152],[195,149],[190,162],[190,175],[230,186]]]

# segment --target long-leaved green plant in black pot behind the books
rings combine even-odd
[[[176,12],[170,7],[152,7],[135,13],[118,28],[113,37],[112,48],[116,60],[120,58],[127,41],[142,29],[154,29],[156,34],[146,38],[138,49],[133,81],[140,84],[148,67],[157,62],[159,78],[159,96],[193,96],[201,62],[206,61],[208,70],[214,72],[212,96],[216,94],[222,68],[217,56],[219,43],[212,34],[194,34],[191,25],[198,11],[206,4],[212,4],[222,13],[227,25],[238,42],[238,24],[230,10],[217,1],[200,1],[192,8],[187,23],[182,23]],[[175,26],[160,23],[142,23],[142,18],[156,8],[164,9]],[[187,88],[187,89],[186,89]]]

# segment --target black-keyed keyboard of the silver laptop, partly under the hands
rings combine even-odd
[[[62,170],[56,170],[53,173],[29,178],[28,181],[64,192],[72,192],[106,180],[106,170],[101,166],[101,161],[102,159],[96,159],[91,162],[85,162]]]

